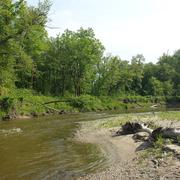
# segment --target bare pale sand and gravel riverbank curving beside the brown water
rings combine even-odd
[[[113,121],[112,118],[110,120]],[[156,122],[163,125],[169,124],[169,121]],[[179,122],[177,123],[179,125]],[[79,179],[180,179],[180,160],[166,155],[159,159],[153,156],[143,158],[145,147],[142,145],[143,142],[135,142],[132,135],[113,137],[112,133],[118,128],[99,127],[98,121],[81,124],[81,129],[76,134],[77,140],[97,144],[105,153],[109,167]]]

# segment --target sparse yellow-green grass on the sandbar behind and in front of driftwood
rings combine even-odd
[[[152,114],[122,114],[117,118],[109,118],[99,122],[99,128],[120,128],[127,121],[143,121],[148,122],[152,129],[156,129],[157,125],[155,124],[158,120],[171,120],[177,121],[180,120],[180,112],[159,112],[155,116]],[[178,137],[177,142],[180,142],[180,137]],[[166,144],[171,144],[172,140],[164,139],[162,136],[159,136],[152,146],[141,152],[141,158],[146,159],[150,156],[154,158],[164,158],[172,156],[172,152],[165,152],[164,147]]]

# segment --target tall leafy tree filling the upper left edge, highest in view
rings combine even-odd
[[[23,0],[0,2],[0,86],[32,86],[35,58],[44,50],[49,1],[37,8]]]

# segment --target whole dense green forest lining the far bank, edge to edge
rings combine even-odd
[[[51,3],[0,1],[0,93],[30,89],[45,96],[178,96],[180,50],[156,64],[105,55],[93,29],[48,37]]]

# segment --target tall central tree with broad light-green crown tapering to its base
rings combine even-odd
[[[93,83],[90,77],[101,60],[104,47],[90,28],[80,28],[77,32],[66,30],[61,40],[65,52],[61,54],[68,64],[75,95],[79,96],[82,92],[86,92],[87,82]]]

